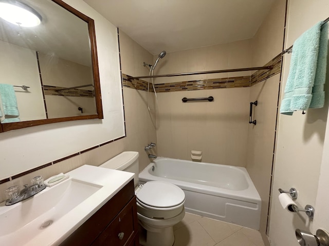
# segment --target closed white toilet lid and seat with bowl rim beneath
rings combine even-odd
[[[137,212],[149,218],[168,219],[184,210],[185,193],[172,183],[149,181],[137,192]]]

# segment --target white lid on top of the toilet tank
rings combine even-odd
[[[100,167],[124,170],[129,167],[134,161],[138,159],[139,153],[136,151],[125,151],[121,154],[105,161]]]

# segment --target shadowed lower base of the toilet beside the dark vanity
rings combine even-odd
[[[142,246],[172,246],[175,241],[173,227],[161,228],[155,231],[141,229],[139,243]]]

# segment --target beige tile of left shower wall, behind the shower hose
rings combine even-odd
[[[143,62],[153,64],[153,55],[142,48],[125,33],[119,31],[122,73],[131,76],[149,75]],[[144,147],[156,141],[156,115],[154,93],[150,93],[148,111],[147,92],[123,88],[125,110],[126,139],[125,150],[139,152],[139,169],[143,170],[149,163],[148,154],[157,154],[157,148],[145,152]]]

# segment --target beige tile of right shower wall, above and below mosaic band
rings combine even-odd
[[[263,66],[282,52],[286,0],[275,1],[252,42],[252,66]],[[280,64],[281,67],[281,64]],[[262,199],[260,232],[265,245],[273,152],[276,136],[280,71],[277,75],[250,88],[250,101],[258,100],[254,117],[257,125],[249,125],[246,169]],[[275,191],[276,192],[276,191]]]

